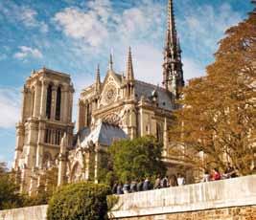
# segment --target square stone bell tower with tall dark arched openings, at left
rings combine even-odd
[[[56,165],[65,133],[67,145],[72,145],[73,93],[69,75],[46,68],[26,80],[13,165],[20,173],[22,191],[35,191],[40,173]]]

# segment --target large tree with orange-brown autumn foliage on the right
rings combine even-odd
[[[252,173],[255,161],[256,13],[226,31],[207,67],[207,76],[189,81],[182,109],[175,112],[170,136],[185,146],[182,154],[200,167],[225,168],[231,162],[240,173]],[[202,162],[198,152],[206,157]]]

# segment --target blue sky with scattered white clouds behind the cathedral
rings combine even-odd
[[[184,77],[205,75],[224,31],[252,11],[249,0],[174,0]],[[128,46],[134,75],[162,81],[167,0],[0,0],[0,162],[12,165],[21,89],[42,67],[70,74],[74,117],[81,89],[105,77],[109,54],[124,72]]]

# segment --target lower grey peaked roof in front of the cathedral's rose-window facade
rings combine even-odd
[[[98,125],[91,128],[83,128],[77,135],[80,138],[81,147],[87,147],[87,143],[99,143],[109,146],[114,141],[128,139],[127,134],[120,127],[100,122]]]

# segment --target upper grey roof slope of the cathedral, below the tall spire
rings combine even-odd
[[[152,85],[150,83],[146,83],[143,81],[135,80],[135,95],[137,99],[141,99],[141,97],[145,97],[145,99],[152,99],[153,95],[157,95],[157,103],[160,108],[166,110],[173,110],[173,101],[171,98],[171,94],[169,94],[165,89]]]

